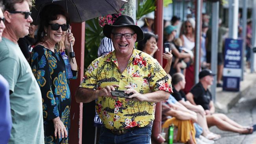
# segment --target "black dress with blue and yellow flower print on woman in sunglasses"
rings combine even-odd
[[[69,137],[55,138],[52,122],[52,119],[59,116],[69,133],[69,79],[66,77],[66,67],[60,51],[55,48],[55,52],[52,52],[44,46],[36,46],[32,51],[31,67],[42,94],[45,144],[68,144]],[[77,71],[72,70],[72,74],[73,79],[76,79]]]

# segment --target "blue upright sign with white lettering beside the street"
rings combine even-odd
[[[223,90],[239,91],[242,50],[242,39],[225,40]]]

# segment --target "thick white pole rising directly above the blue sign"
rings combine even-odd
[[[238,35],[238,0],[229,0],[228,37],[237,39]]]

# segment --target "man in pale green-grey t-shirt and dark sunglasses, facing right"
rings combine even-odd
[[[28,35],[31,0],[4,0],[6,29],[0,42],[0,74],[9,83],[13,126],[9,144],[44,144],[39,86],[17,41]]]

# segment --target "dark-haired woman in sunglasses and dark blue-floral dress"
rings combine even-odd
[[[69,16],[59,5],[45,6],[40,13],[38,40],[32,51],[32,71],[41,89],[45,143],[68,144],[70,126],[70,90],[63,53],[58,43],[65,39],[67,55],[70,42],[74,45],[72,33],[68,33]],[[70,58],[72,78],[77,77],[76,59]],[[67,65],[67,64],[66,64]]]

